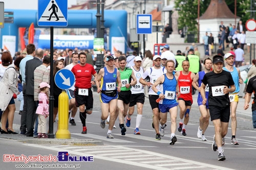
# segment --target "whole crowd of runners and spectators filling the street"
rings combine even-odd
[[[206,40],[206,39],[205,39]],[[205,44],[205,48],[209,45]],[[145,57],[135,51],[125,55],[121,51],[104,52],[104,67],[96,72],[95,58],[89,51],[67,50],[54,53],[53,68],[50,68],[50,56],[47,50],[36,49],[34,44],[26,46],[26,56],[16,56],[14,62],[9,52],[2,54],[0,65],[0,118],[2,118],[1,133],[17,134],[13,129],[15,112],[15,94],[23,95],[23,106],[20,108],[20,135],[36,138],[48,138],[47,117],[49,116],[49,89],[53,88],[54,106],[53,119],[58,113],[58,96],[60,89],[54,82],[50,87],[50,69],[53,76],[60,69],[69,69],[75,76],[75,84],[67,90],[69,95],[69,123],[76,126],[75,115],[79,108],[79,118],[82,123],[82,134],[88,133],[87,115],[93,112],[93,90],[96,85],[100,93],[100,127],[109,124],[106,138],[114,138],[112,134],[118,118],[121,135],[125,135],[126,127],[131,126],[132,115],[137,105],[136,126],[134,134],[140,135],[143,105],[145,95],[153,112],[152,127],[155,129],[156,140],[161,140],[167,122],[167,112],[170,114],[170,145],[177,142],[176,129],[181,135],[187,135],[193,97],[198,93],[198,106],[201,113],[197,137],[207,141],[205,137],[209,119],[215,127],[212,150],[218,151],[218,160],[225,160],[223,145],[231,118],[231,144],[238,145],[236,138],[237,116],[240,91],[243,83],[240,70],[234,66],[234,53],[223,56],[215,55],[206,58],[203,63],[196,55],[196,46],[182,54],[176,55],[170,51],[168,44],[161,48],[161,55],[153,57],[150,50]],[[25,52],[24,52],[25,53]],[[225,64],[225,66],[224,66]],[[203,67],[203,69],[202,69]],[[94,79],[92,79],[94,78]],[[247,109],[250,96],[256,89],[256,77],[248,80],[245,96]],[[22,91],[17,88],[22,84]],[[179,123],[176,120],[179,107]],[[253,105],[253,108],[255,106]],[[253,109],[252,108],[252,109]],[[21,110],[22,109],[22,110]],[[71,114],[71,115],[70,115]],[[253,127],[256,127],[256,113],[253,111]]]

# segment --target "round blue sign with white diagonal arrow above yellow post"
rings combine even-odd
[[[75,83],[75,76],[72,71],[68,69],[60,69],[56,72],[54,81],[58,88],[69,89]]]

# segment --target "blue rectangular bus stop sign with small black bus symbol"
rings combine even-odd
[[[152,34],[152,14],[136,15],[136,34]]]

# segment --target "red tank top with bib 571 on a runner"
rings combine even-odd
[[[193,102],[191,71],[189,71],[188,75],[183,75],[182,71],[180,71],[178,84],[179,84],[179,87],[180,87],[180,96],[179,96],[179,98],[182,98],[185,101],[192,101]]]

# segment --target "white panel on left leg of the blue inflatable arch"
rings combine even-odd
[[[14,57],[16,48],[16,36],[3,35],[2,48],[4,51],[9,51],[12,57]]]

